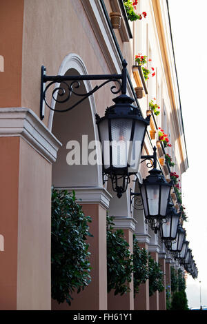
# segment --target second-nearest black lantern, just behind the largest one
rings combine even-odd
[[[166,217],[172,187],[172,183],[166,182],[161,170],[157,170],[156,163],[154,166],[155,168],[149,171],[149,175],[143,180],[143,183],[139,184],[145,217],[148,220]]]

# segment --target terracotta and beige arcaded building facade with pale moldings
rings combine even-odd
[[[112,105],[113,83],[101,87],[69,112],[58,114],[45,105],[40,119],[41,65],[47,75],[120,74],[128,65],[127,93],[143,117],[151,101],[159,114],[152,114],[142,154],[152,154],[157,146],[158,165],[166,179],[170,172],[181,174],[188,168],[184,125],[170,34],[166,0],[135,1],[142,19],[129,21],[119,0],[7,0],[1,1],[0,19],[0,148],[1,148],[1,251],[0,308],[2,310],[165,310],[166,293],[149,297],[148,281],[134,298],[107,293],[106,214],[115,217],[115,227],[124,230],[132,252],[132,236],[145,247],[166,274],[170,265],[179,265],[166,246],[145,222],[144,210],[131,207],[130,189],[139,190],[132,179],[117,198],[110,181],[103,184],[102,167],[89,164],[88,156],[99,140],[95,114],[103,116]],[[110,12],[121,13],[121,27],[113,28]],[[150,71],[144,78],[135,58],[147,57]],[[81,81],[79,91],[89,92],[100,81]],[[59,84],[54,83],[54,87]],[[141,89],[137,99],[136,88]],[[53,90],[53,88],[52,88]],[[66,109],[55,101],[58,90],[49,90],[52,109]],[[59,92],[60,95],[60,92]],[[75,103],[71,97],[71,102]],[[74,101],[74,102],[73,102]],[[164,148],[160,132],[168,134]],[[152,132],[155,136],[153,138]],[[75,142],[80,143],[81,161],[68,163]],[[91,144],[92,145],[92,144]],[[86,153],[84,155],[84,152]],[[163,162],[169,154],[175,165]],[[97,156],[99,152],[97,152]],[[68,156],[68,157],[67,157]],[[148,175],[141,163],[137,178]],[[51,303],[50,214],[51,186],[75,190],[83,212],[92,217],[90,262],[92,282],[67,303]],[[173,200],[177,210],[177,196]]]

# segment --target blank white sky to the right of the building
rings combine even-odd
[[[188,305],[199,307],[200,289],[201,304],[207,305],[207,1],[168,3],[189,163],[182,176],[184,228],[199,270],[198,279],[188,276],[186,293]]]

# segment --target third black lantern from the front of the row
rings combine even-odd
[[[177,227],[179,223],[180,214],[172,203],[168,203],[166,218],[161,221],[160,225],[160,237],[162,241],[165,241],[169,246],[171,241],[174,241],[177,236]]]

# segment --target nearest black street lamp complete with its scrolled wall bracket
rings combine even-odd
[[[103,176],[106,174],[112,181],[112,189],[117,192],[117,196],[126,192],[130,175],[137,174],[141,149],[144,143],[146,128],[150,124],[150,116],[144,119],[141,112],[135,105],[132,105],[134,99],[126,95],[127,70],[126,61],[122,62],[121,74],[94,74],[94,75],[64,75],[48,76],[46,68],[41,67],[41,99],[40,99],[40,117],[44,118],[45,105],[55,112],[68,112],[82,103],[103,85],[108,82],[116,82],[119,88],[115,90],[115,85],[110,88],[113,94],[121,92],[119,97],[113,99],[114,105],[106,108],[105,116],[100,118],[96,114],[99,137],[102,146],[103,158]],[[87,93],[79,94],[75,89],[80,87],[79,81],[86,80],[106,80],[101,85],[95,86]],[[120,82],[121,80],[121,82]],[[46,82],[49,82],[46,85]],[[68,84],[70,82],[70,84]],[[52,91],[52,98],[60,103],[70,101],[72,94],[78,98],[76,103],[69,105],[63,110],[54,109],[46,100],[46,92],[55,83],[62,83],[58,88]],[[64,88],[63,88],[64,85]],[[55,97],[59,94],[59,97]]]

